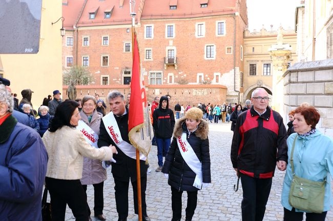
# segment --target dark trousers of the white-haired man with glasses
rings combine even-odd
[[[272,187],[272,178],[259,179],[240,174],[243,188],[242,221],[262,221]]]

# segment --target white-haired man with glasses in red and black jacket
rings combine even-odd
[[[261,221],[275,166],[286,169],[287,133],[280,114],[268,107],[267,91],[257,88],[251,97],[253,106],[237,118],[231,161],[242,182],[242,220]]]

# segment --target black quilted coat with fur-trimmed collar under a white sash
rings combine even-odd
[[[193,186],[196,174],[182,158],[176,137],[181,136],[183,132],[187,134],[186,138],[201,162],[202,182],[211,183],[208,131],[207,122],[201,120],[198,129],[189,135],[185,118],[183,117],[177,121],[173,133],[174,138],[165,157],[162,173],[169,174],[168,184],[178,189],[178,191],[197,191],[198,189]]]

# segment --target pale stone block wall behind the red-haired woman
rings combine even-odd
[[[333,59],[296,63],[283,77],[285,122],[290,110],[307,102],[320,113],[317,128],[333,136]]]

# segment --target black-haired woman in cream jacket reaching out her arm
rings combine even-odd
[[[77,221],[89,220],[87,199],[80,182],[83,158],[110,160],[116,153],[111,145],[94,148],[75,129],[80,120],[78,106],[70,100],[59,104],[43,136],[49,155],[45,182],[51,196],[52,220],[65,220],[66,204]]]

